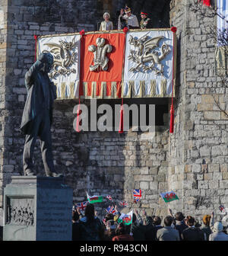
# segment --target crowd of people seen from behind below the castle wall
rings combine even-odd
[[[77,207],[72,210],[73,241],[228,241],[227,226],[223,222],[214,222],[214,213],[205,215],[202,224],[192,216],[178,212],[173,216],[143,217],[135,210],[131,225],[119,222],[117,213],[107,213],[103,220],[97,217],[93,204],[87,204],[84,215]]]

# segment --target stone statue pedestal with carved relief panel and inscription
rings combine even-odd
[[[63,178],[13,176],[4,190],[3,240],[71,240],[72,201]]]

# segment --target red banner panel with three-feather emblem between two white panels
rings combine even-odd
[[[81,98],[120,98],[125,34],[85,34]]]

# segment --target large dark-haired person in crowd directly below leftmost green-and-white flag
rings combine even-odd
[[[80,219],[82,241],[103,240],[104,226],[97,216],[93,204],[88,203],[85,209],[85,216]]]

